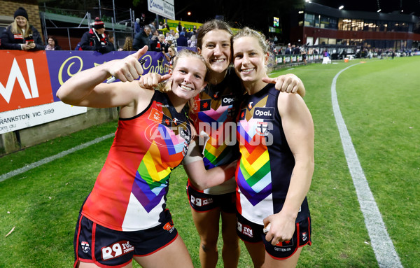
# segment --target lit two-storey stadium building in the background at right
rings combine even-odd
[[[420,19],[415,15],[339,10],[309,2],[296,14],[290,40],[309,48],[337,48],[337,52],[340,48],[401,52],[419,48]]]

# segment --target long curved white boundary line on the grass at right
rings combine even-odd
[[[357,64],[353,64],[351,66],[355,66]],[[370,191],[369,184],[367,183],[365,174],[363,173],[363,169],[358,160],[356,150],[353,146],[353,143],[351,142],[351,137],[347,130],[346,123],[344,122],[342,113],[339,110],[335,85],[340,73],[346,71],[346,69],[349,69],[351,66],[348,66],[347,68],[339,71],[332,80],[332,110],[334,111],[335,121],[337,122],[337,127],[339,130],[339,136],[341,137],[342,145],[344,148],[344,155],[346,156],[351,178],[353,179],[353,184],[356,188],[360,210],[362,211],[363,217],[365,218],[367,233],[369,234],[370,242],[372,244],[374,254],[376,255],[378,265],[381,268],[402,267],[400,258],[395,251],[391,238],[389,237],[388,232],[386,232],[384,220],[382,220],[381,213],[379,212],[378,206],[374,201],[374,197]]]

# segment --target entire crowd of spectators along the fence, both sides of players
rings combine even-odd
[[[55,36],[48,36],[43,43],[39,31],[29,24],[29,17],[25,8],[18,8],[14,13],[14,21],[4,29],[1,33],[0,48],[7,50],[62,50],[59,46]],[[92,22],[92,28],[86,31],[80,38],[80,42],[76,45],[75,50],[94,50],[101,53],[111,52],[116,50],[114,45],[113,32],[108,32],[105,29],[105,24],[96,17]],[[160,21],[158,24],[155,20],[147,24],[145,22],[145,15],[137,18],[134,22],[134,38],[127,36],[125,43],[118,51],[134,51],[148,46],[149,51],[163,52],[165,57],[174,57],[176,48],[197,46],[197,27],[186,29],[181,22],[175,29],[170,29],[166,22]],[[290,44],[286,46],[276,45],[276,37],[267,40],[270,50],[273,55],[305,55],[318,54],[316,49],[305,49],[304,46]],[[174,55],[169,54],[169,48],[172,48]],[[345,52],[345,54],[344,54]],[[416,50],[414,50],[416,52]],[[363,48],[355,51],[354,57],[365,58],[384,58],[399,56],[411,56],[412,50],[392,50],[392,49],[377,49],[377,48]],[[346,50],[338,55],[339,58],[346,57]],[[306,57],[305,57],[306,58]]]

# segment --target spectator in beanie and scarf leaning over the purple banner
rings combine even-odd
[[[102,54],[113,51],[113,44],[105,34],[104,22],[99,17],[96,17],[92,23],[92,27],[80,39],[80,50],[94,50]]]

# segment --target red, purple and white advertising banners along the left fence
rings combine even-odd
[[[85,113],[85,107],[59,101],[59,87],[79,71],[132,53],[0,50],[0,134]],[[144,73],[168,71],[162,52],[147,52],[141,59],[146,60]]]

